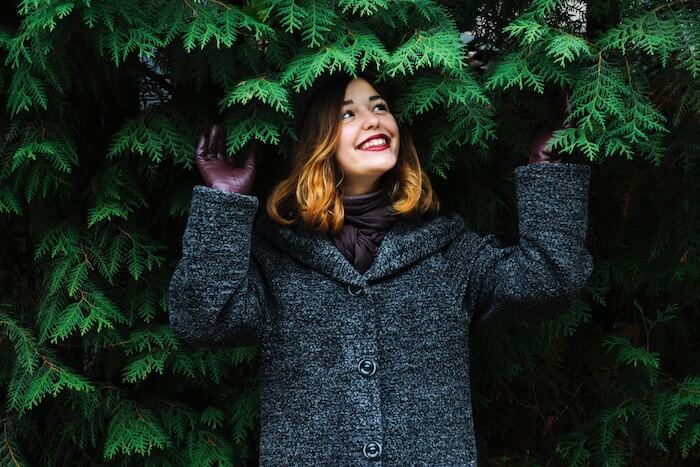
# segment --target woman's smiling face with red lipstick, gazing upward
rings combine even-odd
[[[343,100],[335,157],[343,170],[343,194],[361,195],[378,189],[381,176],[396,165],[399,127],[386,101],[363,78],[348,83]]]

